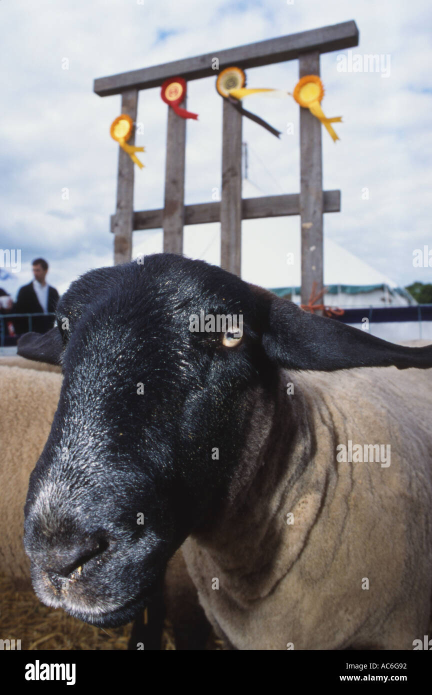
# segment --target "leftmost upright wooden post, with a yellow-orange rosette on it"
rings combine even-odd
[[[135,123],[137,118],[138,90],[122,92],[122,113],[126,113]],[[135,126],[128,145],[135,145]],[[127,263],[132,259],[133,232],[133,167],[131,157],[119,147],[119,167],[117,174],[117,206],[113,220],[114,264]]]

